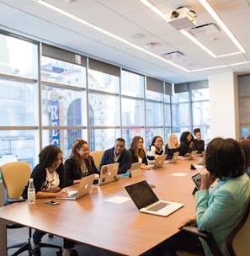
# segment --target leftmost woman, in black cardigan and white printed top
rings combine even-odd
[[[64,187],[65,175],[62,161],[62,152],[59,147],[49,145],[41,150],[39,164],[35,166],[30,178],[34,179],[35,198],[56,198],[66,197],[67,191],[61,190]],[[28,185],[25,187],[23,197],[27,198]],[[30,239],[32,255],[40,255],[39,243],[45,232],[35,230],[33,239]],[[72,249],[74,242],[63,239],[63,256],[77,255]]]

